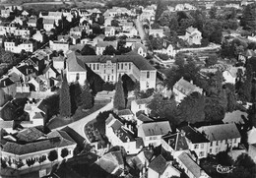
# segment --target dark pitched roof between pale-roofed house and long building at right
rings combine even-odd
[[[184,131],[185,137],[192,142],[192,144],[198,144],[198,143],[209,143],[209,140],[206,139],[206,137],[198,132],[196,129],[192,128],[191,126],[184,126],[179,128],[179,130],[182,132]]]

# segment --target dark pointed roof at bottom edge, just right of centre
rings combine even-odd
[[[153,159],[153,161],[149,164],[148,167],[158,172],[161,175],[166,169],[166,165],[167,165],[167,161],[160,154],[158,157]]]

